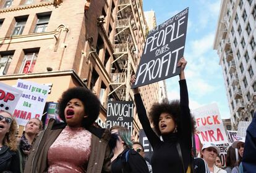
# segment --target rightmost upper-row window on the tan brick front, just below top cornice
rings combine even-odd
[[[47,29],[50,17],[51,17],[51,14],[49,14],[49,13],[48,14],[38,14],[34,33],[45,32]]]

